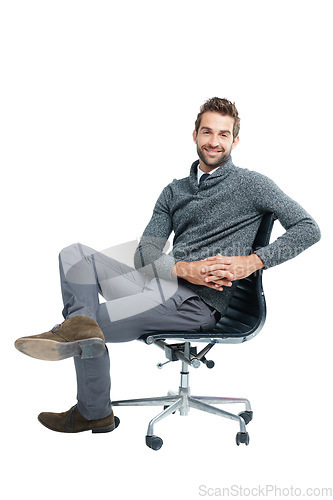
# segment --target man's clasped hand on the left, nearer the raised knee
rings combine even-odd
[[[204,285],[219,291],[223,290],[222,284],[223,286],[231,286],[231,281],[235,279],[229,270],[231,258],[220,255],[209,257],[209,259],[209,262],[208,259],[193,262],[179,261],[174,265],[172,274],[195,285]],[[218,269],[218,275],[216,272],[212,274],[212,268]]]

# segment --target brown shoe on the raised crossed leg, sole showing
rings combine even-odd
[[[58,361],[72,356],[82,359],[101,356],[104,335],[97,322],[87,316],[73,316],[48,332],[16,340],[15,347],[32,358]]]

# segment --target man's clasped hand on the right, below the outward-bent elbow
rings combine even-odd
[[[208,276],[205,277],[205,281],[215,283],[216,288],[224,283],[224,275],[221,268],[224,266],[225,259],[226,257],[218,254],[215,257],[208,257],[204,261],[208,271]],[[231,278],[232,281],[246,278],[258,269],[264,267],[262,260],[257,254],[228,257],[228,259],[230,261],[228,271],[233,276]]]

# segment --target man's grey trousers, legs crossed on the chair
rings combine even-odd
[[[106,342],[128,342],[157,331],[205,331],[214,312],[175,280],[148,278],[126,264],[76,243],[59,254],[63,316],[89,316]],[[99,300],[101,295],[105,302]],[[74,358],[78,410],[88,420],[110,414],[108,349],[97,358]]]

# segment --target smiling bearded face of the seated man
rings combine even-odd
[[[239,137],[233,139],[234,118],[216,111],[206,111],[201,117],[198,134],[193,132],[197,145],[200,167],[209,172],[222,165],[237,146]]]

